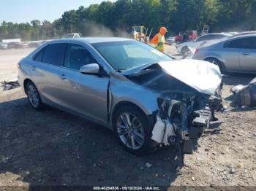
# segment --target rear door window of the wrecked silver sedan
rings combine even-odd
[[[66,44],[50,44],[44,49],[42,55],[43,63],[63,66],[63,57]]]

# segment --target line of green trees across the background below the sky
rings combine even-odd
[[[83,36],[124,36],[132,26],[167,27],[169,34],[197,30],[211,32],[256,31],[256,0],[118,0],[64,12],[57,20],[30,23],[2,22],[0,40],[23,41],[59,38],[67,33]]]

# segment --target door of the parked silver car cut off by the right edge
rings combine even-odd
[[[239,52],[241,71],[256,72],[256,37],[244,38]]]

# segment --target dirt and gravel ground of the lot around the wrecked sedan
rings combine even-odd
[[[17,76],[16,64],[29,52],[0,50],[0,82]],[[256,108],[231,106],[229,92],[252,78],[223,78],[230,111],[217,114],[220,130],[207,131],[197,152],[181,159],[175,147],[130,155],[110,130],[49,107],[35,112],[20,88],[0,90],[0,186],[256,186]]]

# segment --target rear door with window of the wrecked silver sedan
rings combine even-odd
[[[32,79],[39,89],[44,102],[59,102],[59,72],[63,65],[63,55],[67,44],[49,44],[34,57],[31,65]]]

